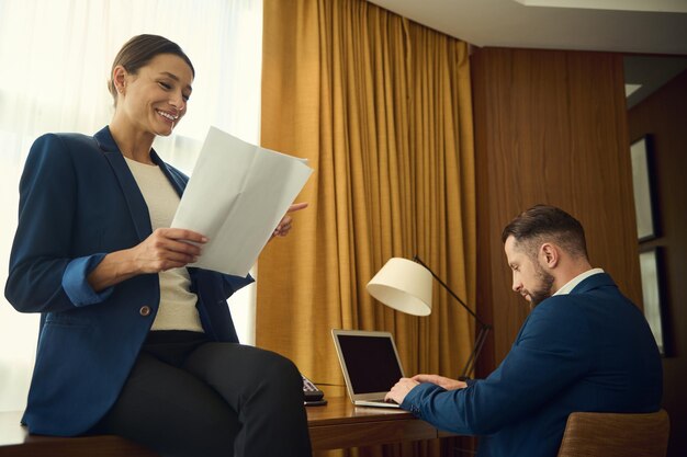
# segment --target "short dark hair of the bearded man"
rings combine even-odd
[[[551,241],[573,256],[587,258],[582,224],[555,206],[536,205],[525,210],[504,228],[502,241],[505,243],[508,237],[523,245],[529,255],[536,255],[542,243]]]

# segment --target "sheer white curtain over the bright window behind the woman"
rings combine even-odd
[[[31,144],[43,133],[93,134],[109,123],[112,60],[140,33],[177,42],[196,72],[187,116],[155,144],[166,161],[190,173],[211,125],[258,142],[261,0],[0,0],[2,286]],[[229,305],[241,342],[255,344],[255,287]],[[0,411],[25,405],[37,329],[37,316],[0,297]]]

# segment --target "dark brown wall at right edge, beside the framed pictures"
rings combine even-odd
[[[687,71],[628,113],[630,140],[652,135],[658,237],[642,243],[663,253],[666,357],[663,401],[671,416],[668,456],[687,456]]]

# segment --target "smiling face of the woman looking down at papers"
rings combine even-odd
[[[117,111],[140,132],[168,136],[187,112],[193,72],[179,56],[160,54],[124,76]]]

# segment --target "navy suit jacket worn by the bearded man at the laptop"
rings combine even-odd
[[[657,411],[662,378],[644,316],[601,273],[537,306],[486,379],[451,391],[421,384],[402,408],[482,435],[481,457],[554,457],[571,412]]]

